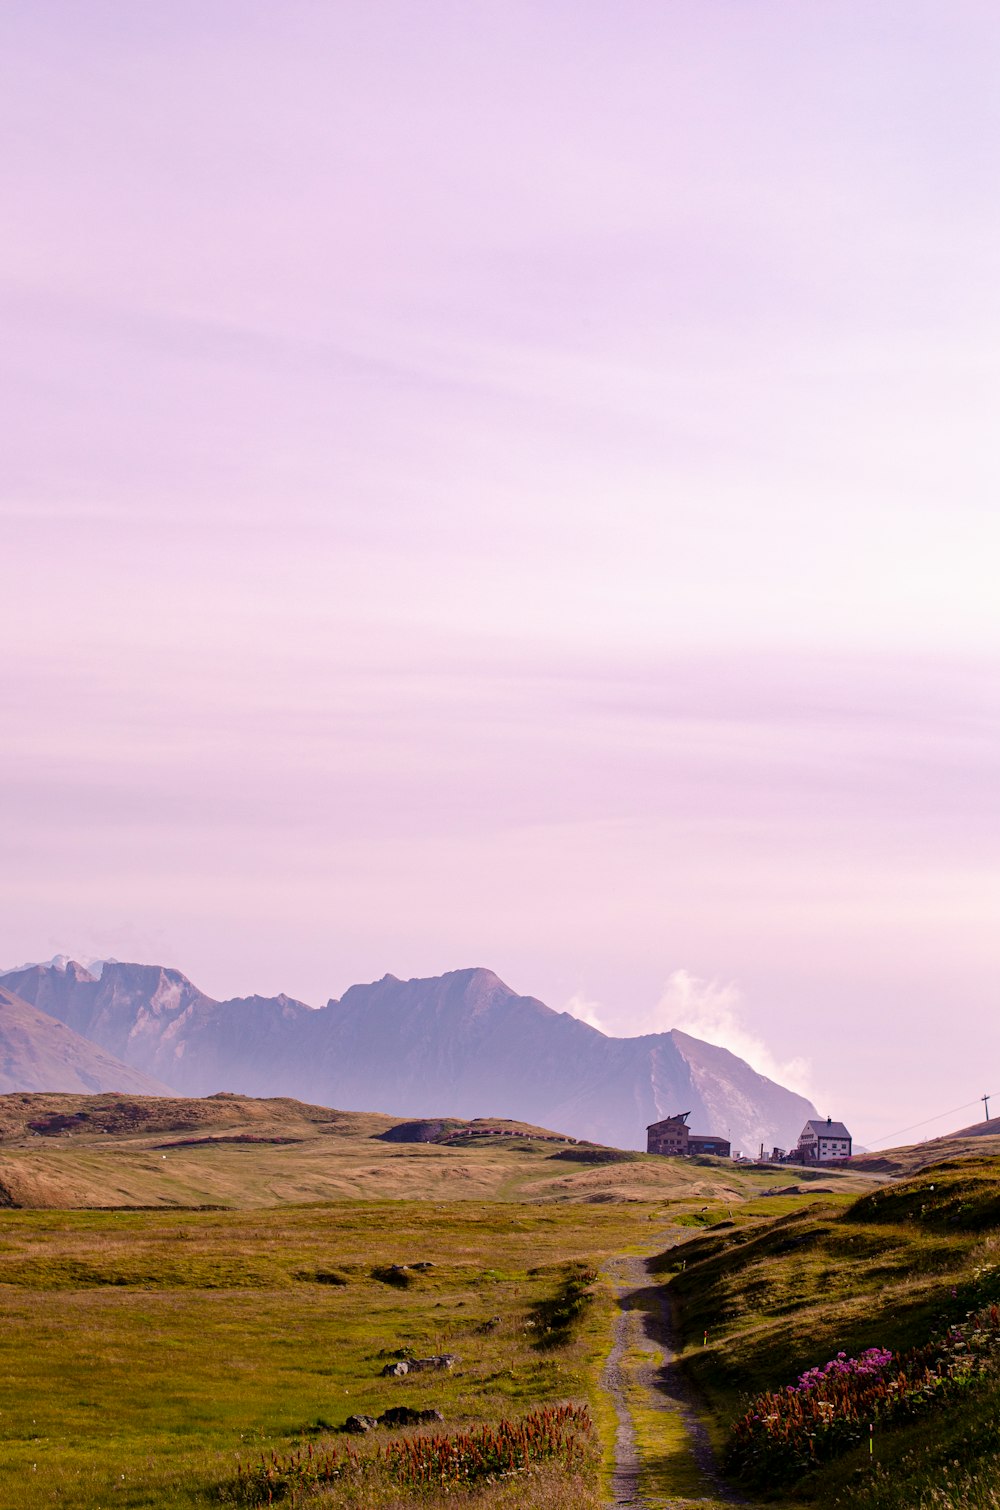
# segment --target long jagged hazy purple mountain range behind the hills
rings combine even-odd
[[[505,1116],[645,1148],[648,1122],[754,1152],[790,1146],[816,1108],[686,1033],[607,1037],[489,969],[385,975],[313,1010],[289,997],[211,1001],[177,969],[38,965],[3,985],[184,1095],[237,1090],[396,1116]]]

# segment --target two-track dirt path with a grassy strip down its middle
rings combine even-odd
[[[746,1504],[718,1475],[708,1436],[677,1367],[666,1291],[651,1282],[640,1258],[616,1258],[607,1274],[621,1306],[601,1376],[618,1415],[609,1505],[708,1510]],[[662,1427],[656,1415],[663,1418]]]

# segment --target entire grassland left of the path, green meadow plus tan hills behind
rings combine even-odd
[[[0,1507],[218,1505],[237,1463],[343,1442],[347,1415],[408,1404],[462,1431],[579,1401],[600,1431],[586,1472],[542,1465],[462,1502],[589,1510],[616,1312],[589,1274],[668,1229],[749,1232],[873,1188],[718,1160],[580,1163],[530,1136],[394,1145],[390,1125],[243,1098],[0,1098],[0,1185],[18,1202],[0,1211]],[[381,1377],[400,1351],[458,1362]],[[656,1425],[639,1419],[650,1451]],[[405,1498],[369,1484],[332,1502]]]

